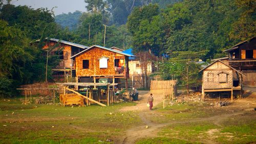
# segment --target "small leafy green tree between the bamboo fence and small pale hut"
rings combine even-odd
[[[195,61],[204,56],[205,51],[180,51],[174,52],[173,55],[173,58],[160,62],[160,72],[164,79],[178,78],[179,82],[186,86],[187,93],[189,93],[189,88],[200,85],[198,81],[201,67]]]

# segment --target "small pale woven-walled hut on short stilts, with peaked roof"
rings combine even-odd
[[[202,69],[202,100],[205,92],[231,92],[231,101],[233,100],[233,90],[242,91],[243,73],[228,66],[220,60],[214,61],[209,66]]]

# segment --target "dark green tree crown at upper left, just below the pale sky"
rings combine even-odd
[[[1,19],[24,32],[28,38],[40,39],[42,35],[58,33],[52,13],[47,9],[31,9],[27,6],[4,5],[0,11]]]

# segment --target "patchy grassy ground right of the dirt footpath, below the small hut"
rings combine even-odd
[[[136,143],[256,142],[255,111],[245,111],[236,106],[211,107],[195,102],[174,104],[165,109],[157,106],[147,118],[168,125],[161,127],[154,137],[142,138]]]

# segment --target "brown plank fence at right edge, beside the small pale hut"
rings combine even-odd
[[[256,70],[242,70],[246,75],[243,77],[244,86],[256,86]]]

